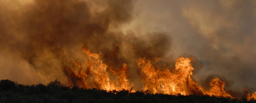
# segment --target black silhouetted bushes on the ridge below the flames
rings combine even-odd
[[[57,80],[47,85],[22,85],[11,80],[0,81],[0,103],[255,103],[256,100],[229,99],[215,96],[163,95],[148,91],[129,93],[66,87]]]

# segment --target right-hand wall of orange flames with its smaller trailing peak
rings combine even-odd
[[[171,73],[169,69],[159,69],[152,65],[145,58],[137,61],[142,69],[143,90],[152,93],[163,93],[169,95],[214,95],[220,97],[233,98],[224,90],[225,83],[215,78],[211,81],[210,91],[201,88],[197,82],[192,80],[191,75],[194,68],[191,66],[190,58],[180,57],[175,64],[175,71]]]

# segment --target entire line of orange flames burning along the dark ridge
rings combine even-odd
[[[103,63],[101,53],[91,53],[88,49],[83,48],[86,54],[84,62],[71,61],[63,67],[69,83],[80,88],[97,88],[101,90],[132,90],[133,83],[127,78],[129,72],[126,63],[123,67],[111,68]],[[160,58],[157,58],[159,60]],[[154,66],[146,57],[137,60],[137,65],[141,68],[141,77],[143,91],[150,93],[162,93],[168,95],[209,95],[218,97],[233,98],[224,90],[225,83],[215,77],[210,83],[210,90],[207,91],[200,87],[192,79],[194,68],[191,65],[192,58],[180,57],[175,63],[174,69],[165,69]],[[157,62],[157,61],[155,61]],[[247,95],[248,100],[256,98],[256,92]]]

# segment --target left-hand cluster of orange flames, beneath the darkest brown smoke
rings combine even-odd
[[[117,68],[115,71],[111,70],[114,80],[110,80],[111,74],[108,71],[108,66],[100,59],[101,54],[91,53],[84,49],[84,53],[88,56],[85,61],[86,65],[81,62],[72,61],[72,67],[64,67],[63,71],[68,75],[70,84],[83,88],[97,88],[101,90],[131,90],[132,84],[127,79],[126,73],[128,67],[124,63],[123,67]]]

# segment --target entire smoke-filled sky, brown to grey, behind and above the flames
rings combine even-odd
[[[0,0],[0,79],[66,84],[63,65],[83,61],[84,46],[113,68],[127,63],[137,89],[136,60],[173,68],[191,55],[205,89],[221,77],[227,89],[255,91],[255,11],[249,0]]]

